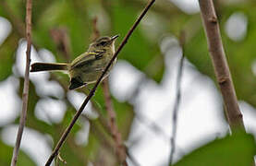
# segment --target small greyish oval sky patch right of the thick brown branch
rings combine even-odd
[[[226,21],[226,34],[233,41],[242,41],[247,34],[248,20],[245,14],[236,12]]]

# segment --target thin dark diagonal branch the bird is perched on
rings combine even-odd
[[[87,98],[83,101],[82,105],[79,108],[79,111],[75,114],[75,116],[73,117],[72,121],[70,122],[70,124],[67,126],[66,131],[63,133],[63,135],[61,136],[60,140],[58,141],[52,155],[50,156],[50,158],[47,160],[46,162],[46,166],[50,166],[50,164],[52,163],[52,161],[55,159],[55,156],[58,154],[59,148],[62,147],[63,143],[65,142],[67,135],[70,133],[73,125],[75,125],[76,121],[79,119],[79,115],[80,113],[82,113],[83,109],[85,108],[85,106],[87,105],[87,103],[90,101],[91,97],[94,95],[95,90],[97,89],[97,87],[99,86],[100,82],[102,81],[106,71],[108,70],[108,68],[110,67],[110,65],[112,65],[112,63],[115,61],[118,53],[120,53],[120,51],[122,50],[122,48],[125,46],[125,44],[128,41],[128,38],[130,37],[130,35],[132,34],[132,32],[136,29],[136,27],[139,25],[140,20],[145,16],[145,14],[147,13],[147,11],[149,10],[149,8],[152,6],[152,4],[154,3],[155,0],[152,0],[142,11],[142,13],[140,14],[140,17],[136,20],[136,22],[133,24],[133,26],[131,27],[131,29],[128,31],[128,34],[126,35],[125,39],[122,41],[122,43],[120,44],[120,46],[118,47],[116,53],[113,55],[112,59],[110,60],[110,62],[108,63],[108,65],[105,67],[103,74],[101,75],[101,77],[99,77],[99,79],[97,80],[97,82],[95,83],[94,87],[91,89],[89,95],[87,96]]]

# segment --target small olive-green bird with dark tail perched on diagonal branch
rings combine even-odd
[[[67,63],[35,63],[31,65],[30,72],[67,70],[70,77],[69,89],[78,89],[81,86],[95,83],[102,75],[104,68],[110,62],[115,53],[115,41],[118,35],[113,37],[101,37],[92,42],[86,53],[82,53],[71,64]],[[116,60],[109,70],[115,65]],[[109,70],[104,78],[108,76]]]

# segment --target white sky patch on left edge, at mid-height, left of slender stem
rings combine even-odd
[[[0,126],[14,121],[21,111],[21,100],[17,94],[18,84],[18,79],[15,77],[8,77],[0,82]]]

